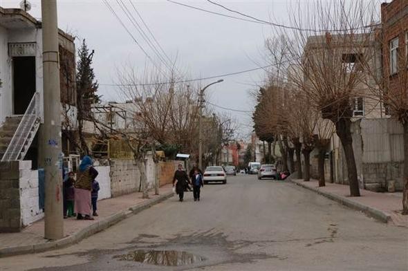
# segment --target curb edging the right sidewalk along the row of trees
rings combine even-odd
[[[391,221],[391,216],[387,214],[386,212],[380,211],[379,209],[375,209],[373,207],[363,205],[362,203],[355,202],[353,200],[350,200],[349,198],[344,198],[343,196],[338,196],[330,192],[322,191],[318,187],[309,187],[302,183],[297,183],[294,180],[292,180],[292,178],[288,178],[288,179],[290,180],[290,182],[295,183],[296,185],[299,185],[300,187],[304,187],[311,191],[315,191],[317,194],[325,196],[326,198],[330,198],[331,200],[335,200],[338,203],[341,203],[342,205],[345,205],[352,209],[356,209],[358,211],[364,212],[364,214],[367,214],[368,216],[371,216],[377,219],[378,221],[381,221],[383,223],[388,223],[388,221]]]

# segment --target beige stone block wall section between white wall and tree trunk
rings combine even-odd
[[[112,197],[139,190],[140,172],[134,160],[111,160]]]

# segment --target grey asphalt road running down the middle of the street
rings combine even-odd
[[[189,264],[139,263],[135,250]],[[0,270],[408,270],[408,230],[293,183],[237,176],[203,187],[200,202],[174,196],[66,249],[0,259]]]

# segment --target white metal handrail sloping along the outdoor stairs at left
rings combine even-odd
[[[21,150],[23,149],[24,144],[26,144],[28,136],[30,136],[31,130],[33,129],[35,124],[39,122],[39,120],[40,120],[39,93],[36,92],[34,93],[30,104],[28,104],[26,113],[24,113],[23,118],[21,118],[19,126],[17,127],[14,135],[12,136],[12,139],[8,144],[8,147],[3,155],[3,158],[1,158],[1,161],[19,160]]]

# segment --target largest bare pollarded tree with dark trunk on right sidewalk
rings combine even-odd
[[[351,118],[353,102],[362,95],[359,84],[364,76],[353,63],[366,57],[371,37],[364,26],[372,23],[373,11],[364,1],[315,1],[301,16],[293,12],[294,27],[286,32],[295,41],[289,52],[301,71],[293,81],[322,118],[335,125],[346,156],[351,196],[360,196]]]

